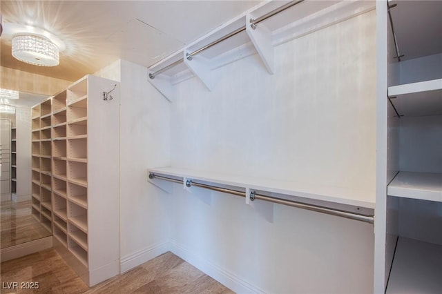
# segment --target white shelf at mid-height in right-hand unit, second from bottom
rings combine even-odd
[[[387,194],[442,202],[442,174],[399,172],[388,185]]]

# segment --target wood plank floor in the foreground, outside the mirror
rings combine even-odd
[[[92,288],[53,249],[2,262],[0,270],[1,293],[233,293],[170,252]],[[8,289],[11,282],[18,288]],[[21,282],[39,288],[21,289]]]

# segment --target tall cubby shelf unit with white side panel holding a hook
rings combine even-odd
[[[86,75],[45,103],[54,246],[93,286],[119,273],[119,83]]]

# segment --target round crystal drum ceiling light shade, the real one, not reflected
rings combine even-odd
[[[59,65],[59,48],[37,35],[15,35],[12,38],[12,56],[35,66]]]

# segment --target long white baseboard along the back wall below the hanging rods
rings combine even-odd
[[[222,268],[217,264],[213,264],[213,262],[198,257],[197,253],[189,251],[180,244],[177,244],[173,239],[171,239],[170,242],[170,249],[173,254],[181,257],[186,262],[189,262],[189,264],[192,264],[206,275],[213,277],[213,279],[217,280],[224,286],[227,286],[227,288],[230,288],[236,293],[266,293],[257,286],[244,281],[242,277],[239,277],[235,273],[231,273],[227,269]]]

